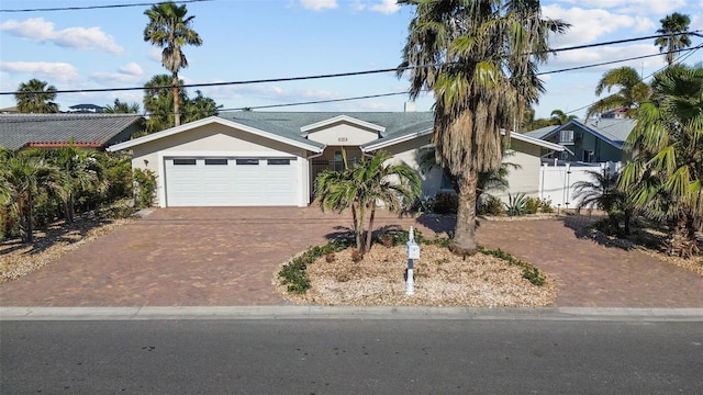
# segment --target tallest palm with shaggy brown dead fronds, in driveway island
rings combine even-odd
[[[501,129],[514,129],[544,90],[536,66],[547,60],[549,33],[568,25],[543,19],[536,0],[399,3],[415,7],[399,77],[411,68],[412,99],[433,91],[437,160],[461,180],[450,249],[476,253],[478,173],[500,168]]]

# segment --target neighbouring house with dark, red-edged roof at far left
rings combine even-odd
[[[77,147],[103,149],[142,129],[135,114],[0,114],[0,147]]]

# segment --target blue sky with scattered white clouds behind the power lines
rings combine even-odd
[[[91,10],[11,10],[125,5]],[[2,0],[0,2],[0,92],[14,92],[36,78],[57,90],[143,87],[168,74],[159,47],[144,42],[148,19],[144,0]],[[241,82],[390,69],[401,63],[411,7],[395,0],[212,0],[187,3],[191,27],[202,46],[185,46],[186,83]],[[690,31],[703,34],[703,0],[543,0],[546,18],[571,24],[553,37],[553,48],[592,45],[656,34],[672,12],[691,16]],[[691,36],[692,46],[703,37]],[[618,61],[633,57],[641,59]],[[703,49],[681,55],[689,65],[703,61]],[[609,65],[559,71],[568,68]],[[666,65],[654,38],[559,52],[540,65],[546,92],[535,105],[537,117],[561,110],[579,117],[599,99],[603,72],[631,66],[645,79]],[[239,83],[198,88],[224,110],[393,95],[332,103],[258,109],[259,111],[403,111],[409,81],[394,72],[301,81]],[[196,88],[188,94],[196,95]],[[60,111],[81,103],[112,104],[114,99],[142,103],[143,91],[59,93]],[[432,95],[419,98],[416,111],[431,111]],[[0,94],[0,108],[13,106]]]

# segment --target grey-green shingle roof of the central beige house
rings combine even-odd
[[[246,124],[263,131],[270,131],[271,124],[278,125],[288,133],[304,135],[300,131],[301,127],[312,125],[317,122],[326,121],[335,116],[346,115],[359,121],[372,123],[386,127],[381,137],[397,135],[402,132],[416,132],[411,127],[420,123],[432,122],[434,114],[432,112],[259,112],[259,111],[241,111],[221,113],[219,116],[228,121]],[[248,122],[248,123],[246,123]],[[257,126],[260,125],[260,126]],[[277,133],[277,132],[274,132]]]

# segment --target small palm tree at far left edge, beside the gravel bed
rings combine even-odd
[[[58,169],[27,153],[4,153],[0,157],[0,199],[20,219],[20,235],[34,242],[34,202],[42,191],[60,189]]]

